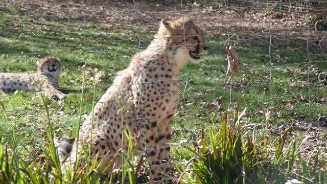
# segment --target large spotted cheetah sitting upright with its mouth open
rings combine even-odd
[[[179,101],[179,73],[188,61],[198,63],[208,49],[203,35],[204,30],[189,18],[162,19],[149,47],[134,55],[129,67],[116,74],[113,84],[94,107],[93,116],[90,114],[81,125],[78,144],[75,141],[64,166],[76,162],[82,148],[91,145],[90,156],[99,154],[102,171],[112,155],[121,148],[127,150],[127,139],[122,132],[128,127],[132,135],[139,135],[134,151],[144,150],[150,180],[167,182],[162,173],[170,173],[169,143]],[[65,140],[59,145],[62,158],[67,154],[65,150],[70,150],[61,148],[69,145]],[[121,156],[114,157],[116,166],[121,161]],[[79,164],[84,163],[82,160]],[[112,169],[111,166],[106,172]]]

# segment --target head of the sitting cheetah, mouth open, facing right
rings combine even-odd
[[[176,20],[161,20],[159,32],[168,37],[168,51],[177,65],[187,61],[200,62],[201,56],[208,49],[204,41],[205,31],[190,18]]]

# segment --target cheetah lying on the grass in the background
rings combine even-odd
[[[59,88],[58,78],[61,62],[58,57],[45,56],[37,61],[36,74],[7,74],[0,73],[0,89],[5,92],[19,90],[44,91],[51,99],[65,97]]]

